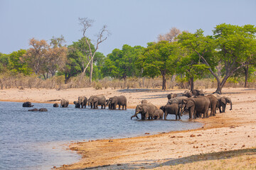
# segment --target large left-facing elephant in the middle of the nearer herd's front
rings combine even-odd
[[[203,113],[203,118],[208,118],[208,111],[210,108],[210,99],[206,96],[198,98],[187,98],[182,100],[182,106],[184,111],[189,113],[189,119],[196,119],[196,114],[201,115]]]

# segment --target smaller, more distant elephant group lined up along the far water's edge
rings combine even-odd
[[[101,108],[106,108],[108,106],[109,109],[116,109],[117,105],[118,108],[122,110],[127,110],[127,98],[125,96],[113,96],[110,97],[108,100],[106,100],[105,96],[90,96],[90,98],[87,98],[85,96],[79,96],[78,101],[73,102],[75,104],[75,108],[86,108],[86,106],[90,108],[98,108],[98,106],[101,106]],[[60,107],[67,108],[69,104],[68,100],[62,99],[60,101]],[[54,103],[53,107],[58,107],[58,103]]]

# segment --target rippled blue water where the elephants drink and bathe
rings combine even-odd
[[[53,104],[33,103],[48,112],[29,112],[22,103],[0,102],[0,169],[51,169],[72,164],[80,157],[66,149],[68,142],[134,137],[199,128],[200,123],[134,118],[134,109],[53,108]],[[139,115],[140,116],[140,115]],[[175,115],[168,115],[175,119]],[[153,130],[153,131],[152,131]]]

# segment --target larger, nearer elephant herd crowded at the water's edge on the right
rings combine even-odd
[[[202,118],[202,114],[203,118],[208,118],[215,116],[217,108],[220,113],[224,113],[227,103],[230,103],[230,110],[232,110],[232,101],[229,97],[213,96],[213,94],[205,96],[202,90],[184,91],[179,95],[168,94],[167,98],[166,105],[160,108],[143,100],[142,104],[136,107],[131,119],[138,118],[139,113],[142,115],[142,120],[163,118],[166,120],[168,114],[176,115],[176,120],[180,120],[183,113],[188,114],[189,119]]]

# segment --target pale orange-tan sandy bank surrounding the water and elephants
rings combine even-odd
[[[60,103],[58,100],[65,98],[73,103],[78,96],[84,95],[88,98],[102,94],[106,98],[126,96],[127,108],[135,108],[142,99],[159,107],[166,104],[167,94],[183,91],[4,89],[0,90],[0,101]],[[211,94],[215,89],[204,91]],[[225,88],[223,96],[232,99],[233,110],[230,111],[228,105],[226,113],[217,111],[215,117],[192,120],[203,123],[202,128],[159,135],[147,134],[141,137],[71,143],[70,149],[81,154],[82,159],[58,169],[256,169],[256,89]],[[226,159],[232,163],[228,164]]]

